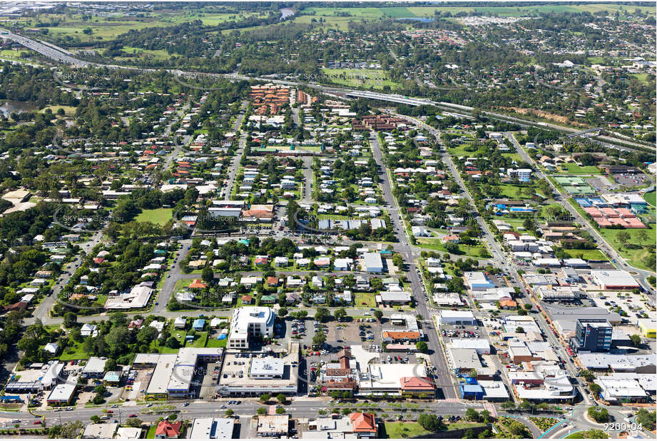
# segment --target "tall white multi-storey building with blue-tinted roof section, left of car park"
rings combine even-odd
[[[274,330],[275,314],[271,308],[243,306],[233,310],[228,334],[229,349],[248,349],[250,335],[271,337]]]

